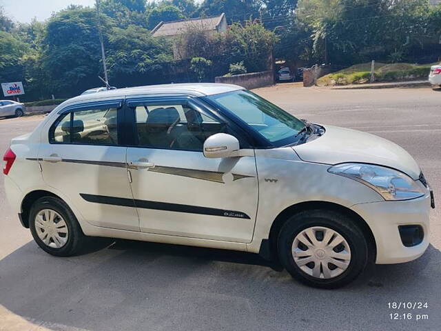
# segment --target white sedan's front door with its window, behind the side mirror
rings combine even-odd
[[[134,126],[127,149],[142,232],[249,243],[258,202],[254,151],[207,159],[203,142],[230,132],[189,99],[128,101]]]

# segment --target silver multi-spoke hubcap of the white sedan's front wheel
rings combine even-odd
[[[347,270],[351,249],[346,239],[335,230],[314,226],[296,235],[292,256],[298,268],[309,276],[331,279]]]

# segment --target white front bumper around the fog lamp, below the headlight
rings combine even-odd
[[[407,201],[381,201],[360,203],[351,209],[365,219],[376,241],[377,264],[403,263],[418,259],[429,246],[429,213],[431,197]],[[403,226],[407,225],[407,226]],[[422,229],[420,243],[406,247],[400,235],[400,228],[415,225]]]

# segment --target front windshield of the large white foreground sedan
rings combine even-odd
[[[247,123],[275,147],[296,142],[296,135],[305,128],[300,119],[247,90],[214,94],[209,99]]]

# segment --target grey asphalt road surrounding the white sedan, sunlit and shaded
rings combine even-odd
[[[299,118],[400,144],[441,197],[441,91],[281,84],[256,92]],[[0,150],[40,120],[0,120]],[[121,241],[51,257],[21,228],[0,183],[0,330],[440,330],[437,202],[431,246],[420,259],[376,265],[345,288],[316,290],[243,252]],[[392,302],[428,308],[389,309]],[[400,319],[391,320],[396,312]]]

